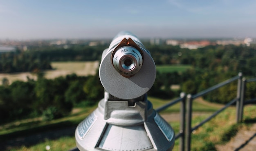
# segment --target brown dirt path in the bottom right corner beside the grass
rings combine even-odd
[[[256,151],[256,123],[249,129],[240,129],[227,144],[215,147],[217,151]]]

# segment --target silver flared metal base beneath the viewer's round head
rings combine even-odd
[[[147,100],[144,115],[137,114],[140,105],[135,103],[135,117],[131,107],[127,110],[129,120],[120,122],[116,120],[117,114],[110,113],[110,118],[104,119],[106,100],[101,100],[99,106],[88,118],[83,120],[76,128],[76,145],[80,151],[171,151],[174,146],[175,135],[171,126],[152,109],[152,104]],[[125,101],[115,102],[124,103]],[[136,108],[137,107],[137,108]],[[115,111],[114,111],[115,112]],[[112,117],[112,115],[115,115]],[[125,118],[124,118],[125,119]],[[135,119],[135,122],[132,122]],[[139,120],[140,119],[140,120]]]

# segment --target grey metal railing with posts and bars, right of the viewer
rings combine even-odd
[[[225,86],[226,84],[229,84],[231,82],[234,82],[235,80],[238,80],[237,84],[237,95],[236,98],[231,100],[229,103],[225,104],[224,107],[210,115],[208,118],[200,122],[195,127],[191,127],[191,120],[192,120],[192,103],[195,98],[198,98],[202,95],[205,95],[213,90],[216,90],[220,87]],[[256,102],[256,98],[253,98],[251,100],[245,101],[245,90],[246,90],[246,83],[247,82],[254,82],[256,81],[256,78],[246,80],[245,78],[242,78],[242,73],[239,73],[238,76],[235,76],[233,78],[230,78],[224,82],[221,82],[213,87],[210,87],[208,89],[205,89],[204,91],[201,91],[195,95],[185,93],[181,93],[180,98],[177,98],[176,100],[173,100],[172,102],[169,102],[165,104],[162,107],[159,107],[156,109],[157,112],[163,111],[167,109],[168,107],[171,107],[172,105],[181,102],[180,106],[180,132],[176,135],[175,139],[177,140],[180,138],[180,151],[190,151],[191,150],[191,133],[201,127],[204,123],[208,122],[212,118],[214,118],[216,115],[218,115],[220,112],[227,109],[232,104],[236,103],[236,122],[242,122],[243,121],[243,107],[245,104],[248,103],[254,103]],[[185,109],[186,107],[186,109]],[[185,124],[186,123],[186,124]]]

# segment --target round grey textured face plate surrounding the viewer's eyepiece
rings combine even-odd
[[[129,37],[129,35],[126,37]],[[121,36],[121,38],[123,37]],[[118,37],[117,40],[114,39],[114,44],[110,44],[110,48],[112,48],[112,45],[117,46],[116,43],[120,42],[121,38]],[[131,36],[131,38],[135,37]],[[136,38],[132,40],[134,40],[136,44],[140,42]],[[143,45],[139,44],[139,47],[140,46]],[[147,93],[153,86],[156,77],[155,62],[150,56],[150,53],[148,53],[144,47],[140,47],[144,56],[143,65],[138,73],[127,78],[122,76],[112,64],[111,58],[114,48],[115,47],[103,52],[104,56],[102,56],[99,67],[99,77],[104,89],[111,95],[126,100],[138,98]]]

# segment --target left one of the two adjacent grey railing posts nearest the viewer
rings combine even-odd
[[[185,116],[186,116],[186,93],[180,93],[180,151],[185,149]]]

